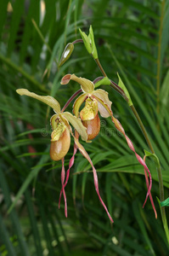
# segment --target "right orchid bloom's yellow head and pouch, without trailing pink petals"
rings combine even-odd
[[[92,140],[99,134],[100,120],[99,114],[104,118],[110,116],[108,108],[111,109],[111,104],[108,92],[102,89],[94,90],[94,84],[88,79],[78,78],[75,74],[67,74],[61,80],[61,84],[68,84],[70,80],[74,80],[81,84],[82,95],[79,96],[73,106],[73,112],[76,117],[79,116],[79,108],[82,102],[85,102],[85,107],[80,113],[82,124],[87,127],[87,140]]]

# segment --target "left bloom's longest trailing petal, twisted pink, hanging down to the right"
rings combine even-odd
[[[71,133],[71,135],[74,137],[74,135]],[[82,144],[79,143],[79,141],[76,139],[76,137],[74,137],[75,139],[75,143],[76,143],[76,146],[77,148],[79,148],[81,154],[88,160],[88,162],[90,163],[90,165],[92,166],[93,168],[93,179],[94,179],[94,186],[95,186],[95,189],[96,189],[96,192],[99,196],[99,201],[101,202],[101,204],[103,205],[104,207],[104,210],[105,212],[107,212],[107,215],[108,217],[110,218],[110,221],[113,223],[113,219],[111,218],[110,216],[110,212],[108,211],[107,207],[105,206],[104,204],[104,201],[102,200],[101,198],[101,195],[99,194],[99,182],[98,182],[98,175],[97,175],[97,172],[96,172],[96,169],[94,168],[93,166],[93,162],[92,160],[90,159],[89,155],[87,154],[87,151],[85,150],[85,148],[82,147]]]

